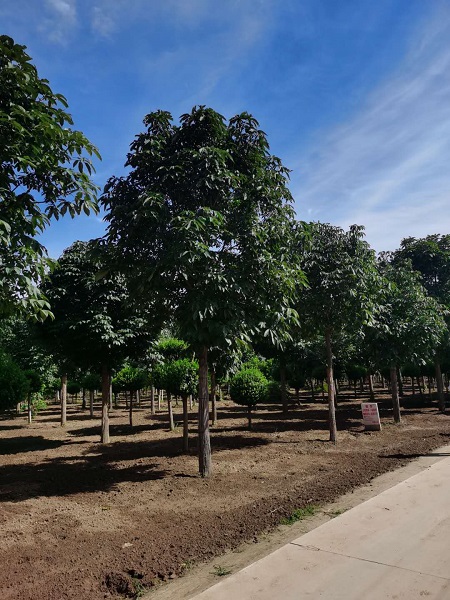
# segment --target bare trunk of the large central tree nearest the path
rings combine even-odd
[[[198,354],[198,466],[202,477],[211,475],[211,440],[209,438],[208,348]]]

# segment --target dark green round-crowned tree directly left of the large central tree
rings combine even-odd
[[[64,251],[44,287],[55,319],[42,325],[62,363],[101,372],[103,443],[109,442],[111,370],[144,353],[150,339],[149,319],[134,310],[124,277],[104,271],[107,252],[95,242],[75,242]]]

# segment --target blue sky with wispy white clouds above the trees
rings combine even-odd
[[[376,250],[450,232],[446,0],[1,0],[0,23],[98,146],[100,186],[145,114],[206,104],[259,120],[298,218],[365,225]],[[63,219],[42,241],[103,231]]]

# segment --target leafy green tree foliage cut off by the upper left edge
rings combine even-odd
[[[53,261],[36,235],[52,218],[97,211],[90,175],[100,155],[25,50],[0,36],[0,316],[44,319],[39,284]]]

